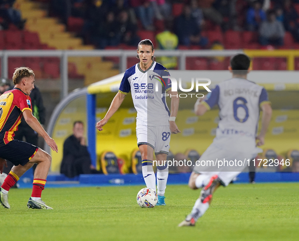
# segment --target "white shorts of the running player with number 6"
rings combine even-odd
[[[232,151],[211,144],[196,162],[193,172],[205,174],[208,179],[217,174],[222,184],[227,186],[248,166],[248,159],[251,160],[257,156],[259,150],[259,148],[256,148],[251,151]],[[237,162],[235,162],[235,159]],[[224,166],[224,160],[228,161],[226,164],[231,164],[232,166]],[[212,164],[215,166],[211,166]],[[221,164],[223,165],[221,166]]]

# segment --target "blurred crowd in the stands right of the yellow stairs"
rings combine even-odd
[[[37,0],[41,1],[41,0]],[[45,0],[42,0],[45,2]],[[47,2],[47,1],[46,1]],[[299,41],[298,0],[53,0],[52,15],[63,22],[81,19],[78,33],[88,44],[135,47],[144,32],[155,36],[167,28],[179,46],[210,48],[228,30],[252,31],[258,47],[284,45],[285,31]],[[213,31],[209,33],[208,31]],[[172,38],[173,39],[173,38]],[[165,49],[167,46],[160,48]],[[254,47],[257,47],[255,45]],[[168,49],[169,49],[168,48]],[[226,48],[226,46],[224,46]]]

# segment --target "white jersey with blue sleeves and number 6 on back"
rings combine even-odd
[[[244,78],[231,78],[217,85],[202,103],[208,109],[216,104],[220,108],[216,141],[227,145],[245,142],[255,147],[260,106],[270,103],[262,86]]]

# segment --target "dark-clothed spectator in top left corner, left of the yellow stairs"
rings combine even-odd
[[[0,17],[4,18],[2,26],[8,28],[10,23],[16,25],[19,29],[24,28],[26,22],[22,19],[21,12],[14,9],[14,3],[16,0],[0,0]]]

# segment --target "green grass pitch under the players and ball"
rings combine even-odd
[[[30,189],[11,189],[0,209],[2,240],[298,240],[298,183],[220,187],[195,227],[177,227],[199,190],[166,189],[166,205],[140,208],[143,186],[46,188],[54,210],[27,209]]]

